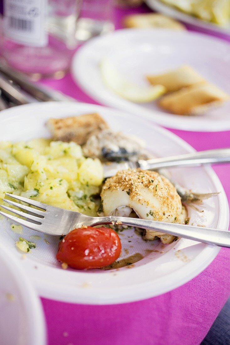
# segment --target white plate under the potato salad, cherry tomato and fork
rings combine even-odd
[[[147,148],[157,156],[168,156],[191,152],[193,149],[169,131],[134,115],[97,105],[74,102],[36,103],[3,110],[0,116],[1,140],[23,140],[49,137],[45,127],[50,117],[60,118],[98,112],[114,130],[132,133],[147,142]],[[172,177],[194,191],[218,191],[217,197],[205,201],[204,212],[189,210],[191,223],[227,229],[229,209],[223,187],[211,168],[172,169]],[[18,258],[21,254],[15,247],[18,239],[10,229],[11,221],[1,220],[1,241]],[[201,228],[202,231],[202,228]],[[22,237],[41,235],[23,229]],[[128,238],[128,236],[132,236]],[[144,259],[135,267],[111,271],[63,270],[57,262],[59,237],[45,236],[36,240],[36,248],[20,260],[41,296],[85,304],[115,304],[156,296],[184,284],[200,273],[217,255],[219,248],[181,239],[164,246],[158,241],[145,242],[133,230],[121,234],[124,249],[129,255],[140,252]],[[128,242],[131,240],[132,242]],[[133,246],[133,248],[128,246]],[[146,253],[145,249],[159,252]],[[178,250],[181,250],[178,252]],[[160,253],[164,251],[164,253]]]

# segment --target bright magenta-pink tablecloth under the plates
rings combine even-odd
[[[115,11],[116,27],[124,14]],[[70,75],[47,85],[83,102],[96,103],[83,93]],[[201,133],[172,130],[197,150],[230,147],[230,132]],[[230,166],[217,172],[230,201]],[[141,302],[123,305],[76,305],[42,298],[49,345],[198,345],[230,294],[230,252],[221,249],[197,277],[175,290]],[[119,293],[119,292],[118,292]]]

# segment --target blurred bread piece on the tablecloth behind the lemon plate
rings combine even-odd
[[[163,28],[185,30],[185,26],[170,17],[159,13],[133,14],[123,20],[126,28]]]

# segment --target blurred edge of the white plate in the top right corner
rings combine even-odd
[[[230,36],[230,22],[226,27],[221,27],[215,23],[206,22],[194,16],[190,16],[173,6],[168,6],[160,0],[145,0],[148,7],[152,10],[158,11],[160,13],[166,14],[172,18],[183,21],[184,23],[190,24],[194,27],[204,29],[207,32],[217,32]]]

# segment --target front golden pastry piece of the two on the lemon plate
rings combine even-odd
[[[173,114],[199,115],[230,99],[226,92],[210,83],[199,83],[163,96],[158,105]]]

